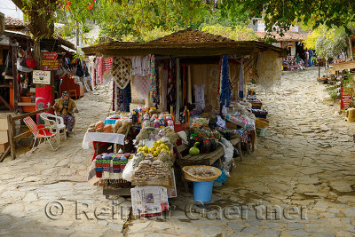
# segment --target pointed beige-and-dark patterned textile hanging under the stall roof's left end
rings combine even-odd
[[[126,88],[126,86],[130,83],[130,73],[132,69],[130,59],[114,57],[112,67],[112,76],[114,78],[114,82],[118,88]]]

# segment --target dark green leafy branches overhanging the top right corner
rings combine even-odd
[[[251,17],[264,17],[267,31],[272,31],[275,26],[287,29],[296,22],[304,22],[306,25],[312,22],[312,28],[320,25],[328,28],[343,27],[350,33],[347,26],[355,21],[353,0],[229,0],[222,4],[224,6],[221,9],[229,13],[233,13],[231,9],[242,6],[242,10],[249,12]]]

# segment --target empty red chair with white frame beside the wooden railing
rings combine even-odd
[[[40,142],[41,142],[41,140],[44,140],[44,142],[48,141],[48,143],[51,146],[51,149],[53,149],[54,151],[58,150],[60,144],[59,144],[59,141],[58,141],[57,132],[53,132],[50,127],[48,127],[48,129],[46,129],[46,126],[43,125],[43,124],[37,125],[33,121],[33,119],[31,117],[29,117],[29,116],[24,118],[23,122],[25,122],[25,124],[28,126],[28,129],[32,132],[32,134],[35,137],[35,141],[34,141],[34,144],[33,144],[32,148],[31,148],[31,150],[34,149],[34,146],[36,145],[37,138],[39,139]],[[51,145],[51,138],[54,138],[56,136],[57,136],[56,140],[57,140],[57,143],[58,143],[58,147],[54,148]]]

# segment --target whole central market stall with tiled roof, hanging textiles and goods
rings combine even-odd
[[[192,29],[83,51],[102,57],[103,80],[113,80],[111,115],[93,122],[83,138],[83,148],[92,142],[95,149],[88,179],[106,196],[131,194],[136,215],[167,209],[180,177],[185,190],[194,183],[196,201],[210,200],[197,190],[221,186],[235,158],[252,152],[256,133],[263,136],[268,126],[247,84],[276,83],[286,55],[269,44]],[[149,212],[142,203],[160,208]]]

